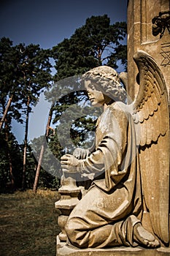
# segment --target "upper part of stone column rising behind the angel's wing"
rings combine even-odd
[[[136,50],[144,50],[158,63],[166,86],[170,87],[170,28],[169,0],[129,0],[128,1],[128,94],[134,99],[139,86],[136,83],[138,69],[133,56]],[[160,13],[161,12],[161,13]],[[162,15],[160,15],[162,14]],[[158,17],[165,24],[165,31],[155,34],[153,18]],[[134,85],[134,86],[131,86]]]

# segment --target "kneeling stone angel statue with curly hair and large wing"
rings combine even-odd
[[[92,106],[103,109],[90,149],[61,157],[68,172],[93,177],[66,222],[67,244],[78,248],[169,245],[169,104],[158,65],[134,56],[139,92],[133,102],[107,66],[85,72]]]

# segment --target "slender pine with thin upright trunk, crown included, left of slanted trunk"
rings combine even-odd
[[[26,151],[28,138],[28,119],[31,107],[36,103],[39,94],[47,89],[52,80],[50,75],[50,50],[43,50],[39,45],[18,45],[22,53],[22,61],[18,69],[20,86],[23,88],[24,97],[20,99],[22,105],[26,106],[26,128],[23,150],[23,181],[22,187],[26,187]]]

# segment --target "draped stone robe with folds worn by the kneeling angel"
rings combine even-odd
[[[72,246],[136,246],[133,227],[142,214],[136,136],[131,115],[120,106],[112,103],[98,118],[96,148],[77,167],[94,181],[66,224]]]

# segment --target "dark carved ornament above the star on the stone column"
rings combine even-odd
[[[170,34],[170,10],[159,12],[158,16],[152,18],[152,34],[156,37],[160,34],[163,37],[164,31],[168,29]]]

